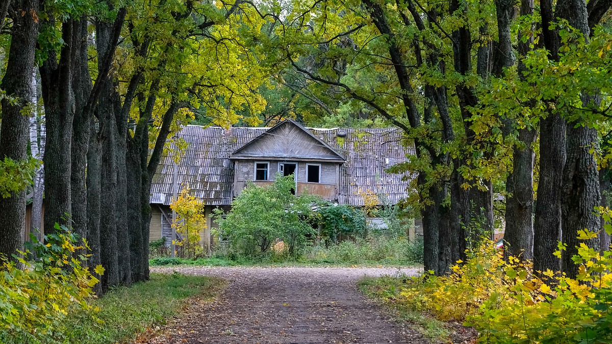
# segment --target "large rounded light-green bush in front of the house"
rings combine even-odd
[[[232,209],[223,218],[215,211],[220,234],[227,238],[234,252],[248,258],[287,254],[297,257],[315,233],[310,225],[312,204],[316,196],[295,196],[293,177],[277,174],[269,187],[247,185],[232,202]],[[282,247],[274,246],[282,241]],[[272,249],[274,247],[274,249]]]

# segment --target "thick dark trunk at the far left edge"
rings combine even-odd
[[[28,116],[24,116],[21,111],[32,98],[32,69],[38,34],[38,19],[35,15],[38,9],[37,0],[16,0],[10,10],[13,18],[12,39],[1,88],[7,96],[17,101],[3,98],[1,102],[1,160],[9,158],[19,161],[28,157]],[[9,258],[16,250],[23,249],[25,196],[25,190],[21,190],[7,198],[0,197],[0,253]]]

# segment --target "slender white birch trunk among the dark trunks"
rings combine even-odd
[[[45,113],[39,105],[40,75],[37,70],[32,74],[32,103],[35,105],[34,116],[30,118],[30,149],[32,156],[42,162],[45,155]],[[42,239],[40,226],[42,225],[42,197],[45,191],[45,169],[42,165],[34,171],[34,192],[32,196],[32,221],[30,233],[39,241]]]

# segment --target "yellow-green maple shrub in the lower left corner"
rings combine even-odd
[[[92,286],[99,281],[83,263],[89,255],[77,254],[89,249],[77,245],[76,234],[56,224],[55,233],[44,237],[46,244],[32,237],[31,250],[18,258],[24,268],[4,260],[0,267],[0,342],[41,343],[63,340],[58,331],[65,318],[75,312],[95,309],[87,301],[94,296]],[[37,260],[28,261],[35,253]],[[97,274],[104,271],[95,267]],[[93,321],[93,318],[90,318]]]

